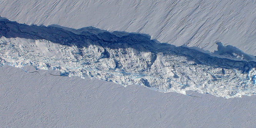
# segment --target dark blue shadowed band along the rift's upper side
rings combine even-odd
[[[155,58],[158,53],[162,53],[163,55],[172,54],[185,57],[187,60],[193,60],[196,62],[195,65],[209,65],[228,69],[237,68],[242,71],[242,73],[248,73],[251,68],[256,67],[256,62],[253,61],[236,61],[213,57],[190,48],[176,47],[167,43],[156,42],[155,40],[151,40],[150,36],[146,34],[117,31],[108,32],[94,27],[86,27],[78,30],[63,28],[64,27],[56,27],[56,25],[55,27],[46,27],[43,25],[20,24],[7,19],[0,20],[0,36],[6,38],[45,39],[61,45],[75,45],[78,48],[88,47],[89,45],[98,45],[103,48],[111,49],[134,48],[139,52],[152,52]],[[95,31],[98,31],[98,33],[95,33]],[[238,49],[236,48],[236,50]],[[107,51],[105,54],[105,57],[108,57]],[[155,61],[155,59],[152,61]],[[230,62],[234,63],[234,65],[230,65]],[[236,63],[240,64],[236,65]]]

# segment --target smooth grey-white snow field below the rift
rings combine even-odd
[[[161,93],[143,86],[34,67],[0,67],[0,127],[254,128],[256,96],[221,98],[189,91]],[[53,74],[53,75],[50,75]],[[194,97],[198,96],[198,97]]]

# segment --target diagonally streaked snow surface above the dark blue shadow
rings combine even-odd
[[[256,55],[255,0],[2,0],[0,15],[28,25],[146,33],[210,52],[223,42]]]

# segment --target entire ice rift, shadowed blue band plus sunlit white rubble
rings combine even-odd
[[[138,33],[29,26],[8,20],[0,20],[0,26],[1,65],[33,65],[60,70],[62,75],[183,94],[194,90],[230,98],[256,93],[255,57],[230,45],[215,42],[218,51],[206,54],[156,43]]]

